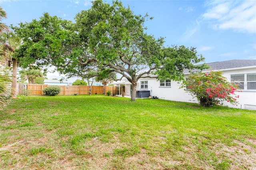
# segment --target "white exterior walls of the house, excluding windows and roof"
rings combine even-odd
[[[246,74],[246,73],[256,73],[255,68],[245,68],[245,69],[233,69],[233,70],[222,70],[223,76],[230,81],[230,75],[232,74]],[[140,81],[148,81],[148,89],[140,88]],[[171,100],[171,101],[183,101],[190,103],[198,103],[196,98],[193,98],[190,93],[180,89],[180,83],[177,81],[171,81],[171,87],[160,87],[160,81],[155,78],[144,78],[139,79],[137,85],[137,91],[149,90],[152,96],[157,96],[159,99]],[[247,84],[244,84],[246,86]],[[130,85],[126,85],[126,95],[130,95]],[[256,90],[242,90],[242,92],[236,92],[239,95],[238,102],[239,105],[234,106],[230,103],[225,102],[224,105],[228,107],[238,108],[238,109],[250,109],[256,110]]]

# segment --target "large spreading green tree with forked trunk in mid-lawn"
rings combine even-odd
[[[67,75],[92,65],[110,69],[132,83],[135,101],[140,78],[153,75],[180,81],[184,69],[204,67],[195,65],[204,58],[194,47],[164,47],[164,38],[147,34],[147,19],[151,19],[147,14],[135,15],[119,1],[93,1],[89,10],[76,15],[75,23],[45,13],[40,20],[13,28],[24,41],[16,54],[25,65],[34,61],[51,64]]]

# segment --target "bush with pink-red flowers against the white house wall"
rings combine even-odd
[[[238,85],[228,82],[221,71],[191,73],[182,87],[186,87],[202,106],[223,105],[224,101],[232,105],[238,104],[239,95],[234,93]]]

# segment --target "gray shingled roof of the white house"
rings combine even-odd
[[[233,59],[228,61],[218,61],[214,63],[206,63],[211,68],[210,70],[223,70],[223,69],[232,69],[232,68],[240,68],[240,67],[256,67],[256,59]],[[209,69],[206,69],[209,70]],[[206,71],[205,70],[205,71]],[[188,73],[189,70],[185,69],[184,73]]]

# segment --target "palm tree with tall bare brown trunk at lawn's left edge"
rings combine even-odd
[[[2,32],[0,34],[0,56],[9,67],[12,66],[12,92],[11,96],[16,98],[17,84],[17,60],[12,57],[14,49],[21,44],[21,39],[14,32]]]

